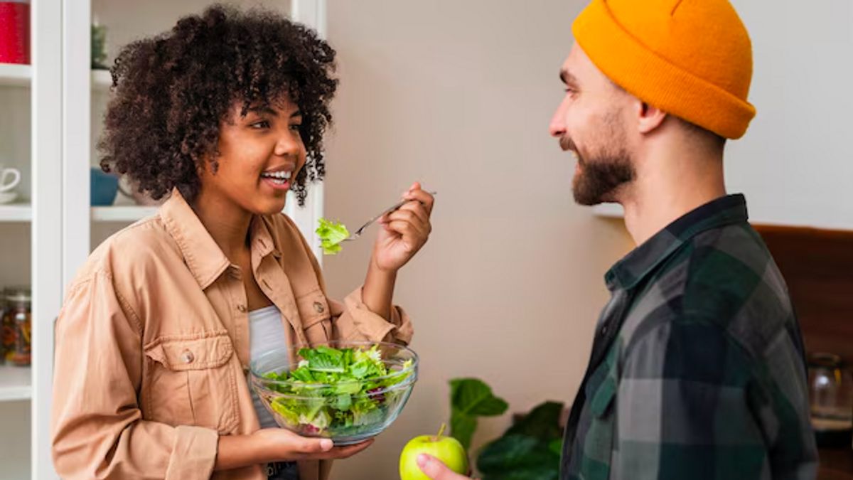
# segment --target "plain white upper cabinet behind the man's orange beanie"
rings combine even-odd
[[[853,3],[732,4],[752,39],[757,116],[726,147],[728,191],[746,194],[753,223],[853,230]]]

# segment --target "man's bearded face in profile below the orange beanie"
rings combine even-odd
[[[577,158],[572,192],[575,202],[596,205],[618,201],[635,179],[627,135],[630,95],[619,89],[575,44],[560,69],[566,97],[549,131],[560,148]]]

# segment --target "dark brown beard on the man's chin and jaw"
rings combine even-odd
[[[575,202],[581,205],[615,202],[618,188],[636,178],[630,154],[624,149],[612,153],[602,152],[590,160],[583,161],[578,156],[581,168],[572,180]]]

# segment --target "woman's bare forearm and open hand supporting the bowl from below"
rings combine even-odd
[[[338,460],[372,445],[365,442],[334,447],[328,438],[307,438],[290,430],[261,429],[250,435],[220,436],[215,470],[293,460]]]

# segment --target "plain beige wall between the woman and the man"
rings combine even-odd
[[[336,479],[396,478],[403,444],[448,419],[450,378],[483,378],[514,411],[572,401],[607,298],[601,278],[630,249],[618,220],[573,204],[574,163],[548,138],[582,6],[328,2],[341,86],[326,214],[356,225],[415,179],[439,192],[430,243],[395,296],[416,321],[421,379],[397,423]],[[370,247],[325,259],[334,296],[363,280]],[[481,422],[475,446],[507,425]]]

